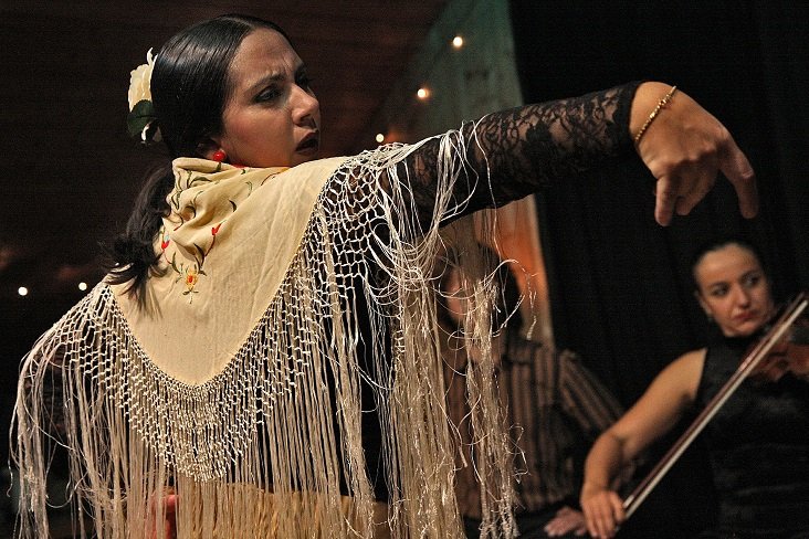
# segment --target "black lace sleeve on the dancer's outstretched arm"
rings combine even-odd
[[[466,158],[476,178],[488,181],[458,182],[454,194],[467,203],[453,216],[503,205],[629,154],[629,114],[639,84],[526,105],[465,124],[459,136]],[[422,223],[432,219],[440,140],[428,140],[408,158],[416,171],[411,189]]]

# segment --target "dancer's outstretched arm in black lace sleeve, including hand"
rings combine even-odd
[[[662,83],[628,84],[466,124],[458,147],[465,147],[473,170],[469,181],[455,188],[459,200],[469,197],[461,214],[502,205],[605,159],[631,155],[634,136],[670,88]],[[438,169],[445,158],[441,144],[442,139],[431,139],[409,158],[420,183],[414,200],[428,219]],[[655,219],[661,224],[668,224],[675,210],[691,211],[719,171],[735,186],[742,213],[755,215],[749,162],[727,129],[683,92],[677,91],[647,127],[637,151],[658,181]]]

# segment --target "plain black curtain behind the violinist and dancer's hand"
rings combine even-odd
[[[687,218],[653,220],[653,180],[638,162],[563,182],[539,203],[554,330],[624,405],[682,352],[704,344],[691,251],[717,233],[764,251],[780,298],[809,289],[809,4],[786,0],[629,2],[513,0],[526,102],[631,80],[676,84],[734,134],[756,169],[760,215],[738,215],[721,179]],[[663,113],[665,114],[665,113]],[[684,424],[686,424],[684,422]],[[659,457],[679,433],[655,445]],[[700,444],[683,457],[621,537],[690,537],[713,496]]]

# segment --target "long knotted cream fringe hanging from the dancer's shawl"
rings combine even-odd
[[[204,383],[158,369],[104,283],[54,325],[27,356],[19,384],[20,536],[49,537],[45,483],[64,447],[78,537],[143,538],[155,529],[161,537],[169,493],[178,496],[180,538],[461,537],[453,492],[459,437],[445,411],[435,313],[435,258],[445,250],[438,223],[463,209],[453,198],[456,181],[487,180],[465,161],[472,149],[459,133],[441,142],[427,229],[411,207],[412,171],[401,165],[416,146],[384,147],[336,172],[264,316]],[[340,202],[354,186],[365,192],[360,208],[387,223],[384,234],[357,225],[363,211]],[[491,351],[491,275],[474,262],[472,226],[456,229],[465,229],[455,249],[476,283],[476,308],[467,315],[476,329],[466,338]],[[368,256],[372,270],[361,262]],[[367,319],[357,316],[357,302],[367,305]],[[361,342],[368,335],[371,342]],[[371,372],[360,345],[370,351]],[[494,362],[490,357],[467,372],[475,448],[469,465],[485,493],[482,531],[511,537],[509,442]],[[381,418],[387,507],[376,503],[367,472],[363,383],[375,388]],[[63,424],[51,424],[61,418]]]

